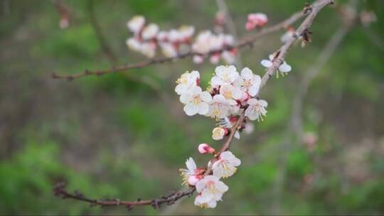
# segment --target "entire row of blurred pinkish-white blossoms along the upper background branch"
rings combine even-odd
[[[210,63],[217,64],[220,60],[233,64],[237,49],[233,48],[234,38],[230,34],[213,33],[209,30],[193,38],[193,26],[181,26],[178,29],[161,31],[156,23],[146,24],[144,16],[134,16],[128,21],[127,27],[133,33],[126,43],[128,48],[154,58],[156,48],[161,48],[164,56],[174,58],[181,50],[193,51],[194,63],[203,63],[209,57]]]

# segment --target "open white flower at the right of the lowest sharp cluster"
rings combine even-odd
[[[236,158],[232,152],[224,151],[220,153],[218,161],[215,161],[212,165],[213,175],[218,178],[228,178],[233,175],[240,166],[241,161]]]

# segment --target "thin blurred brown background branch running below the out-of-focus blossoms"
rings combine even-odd
[[[126,64],[126,65],[119,65],[112,67],[110,69],[106,70],[84,70],[82,72],[78,72],[72,75],[58,75],[56,72],[53,72],[52,77],[54,79],[66,79],[66,80],[74,80],[78,79],[80,77],[85,77],[85,76],[90,76],[90,75],[105,75],[105,74],[110,74],[114,72],[121,72],[124,70],[128,69],[133,69],[133,68],[144,68],[149,65],[155,65],[155,64],[161,64],[161,63],[169,63],[174,60],[182,59],[182,58],[188,58],[193,55],[213,55],[215,53],[223,53],[225,50],[231,50],[233,48],[244,48],[246,46],[252,46],[252,44],[257,40],[257,38],[261,38],[262,36],[265,36],[270,33],[274,33],[275,31],[279,31],[281,29],[287,28],[287,26],[292,25],[292,23],[296,22],[299,20],[299,18],[302,18],[305,16],[303,11],[299,11],[297,13],[294,13],[292,16],[287,18],[286,20],[277,23],[277,25],[272,26],[270,28],[263,28],[262,31],[255,33],[252,36],[247,36],[244,39],[242,39],[238,44],[234,46],[227,46],[223,49],[220,50],[212,50],[209,53],[206,54],[201,54],[201,53],[195,53],[195,52],[188,52],[188,53],[182,53],[177,55],[176,57],[171,57],[171,58],[154,58],[152,60],[146,60],[141,63],[132,63],[132,64]]]

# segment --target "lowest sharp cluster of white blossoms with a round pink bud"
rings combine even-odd
[[[203,154],[214,154],[215,149],[208,144],[200,144],[198,151]],[[183,183],[196,187],[198,195],[195,198],[195,205],[200,207],[216,207],[218,201],[222,200],[223,194],[228,191],[221,178],[228,178],[235,174],[241,161],[230,151],[224,151],[215,155],[215,158],[208,163],[211,173],[206,173],[207,168],[198,168],[193,158],[186,161],[186,169],[181,168]]]

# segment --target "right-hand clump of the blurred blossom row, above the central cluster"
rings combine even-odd
[[[238,53],[237,48],[232,48],[234,43],[231,35],[215,34],[208,30],[202,31],[192,44],[193,52],[198,53],[198,55],[193,56],[193,62],[196,64],[203,63],[204,58],[209,54],[210,63],[217,64],[220,59],[223,59],[225,63],[233,64]]]

